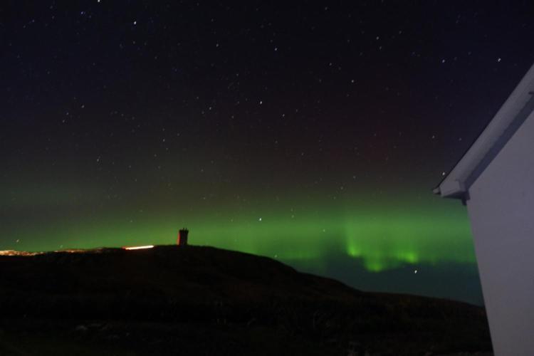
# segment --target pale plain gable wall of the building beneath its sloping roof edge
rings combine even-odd
[[[534,112],[469,188],[495,354],[534,355]]]

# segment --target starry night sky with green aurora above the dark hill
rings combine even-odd
[[[174,244],[187,226],[356,288],[481,303],[466,209],[431,189],[534,62],[532,14],[2,1],[0,250]]]

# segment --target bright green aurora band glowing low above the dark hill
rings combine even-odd
[[[1,234],[9,236],[0,248],[48,251],[174,244],[179,228],[187,226],[192,244],[256,253],[287,263],[314,263],[315,269],[340,253],[360,259],[372,272],[420,263],[476,263],[467,214],[457,201],[445,202],[431,195],[424,200],[400,197],[395,203],[369,201],[373,200],[337,205],[303,199],[300,204],[263,201],[247,209],[226,206],[221,211],[165,205],[135,211],[123,206],[99,214],[61,210],[43,213],[32,224],[24,224],[19,216],[19,222],[0,228]],[[40,214],[43,204],[38,201],[35,214]]]

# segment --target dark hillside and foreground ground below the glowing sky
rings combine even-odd
[[[247,253],[156,246],[0,256],[0,355],[490,351],[483,308],[366,293]]]

